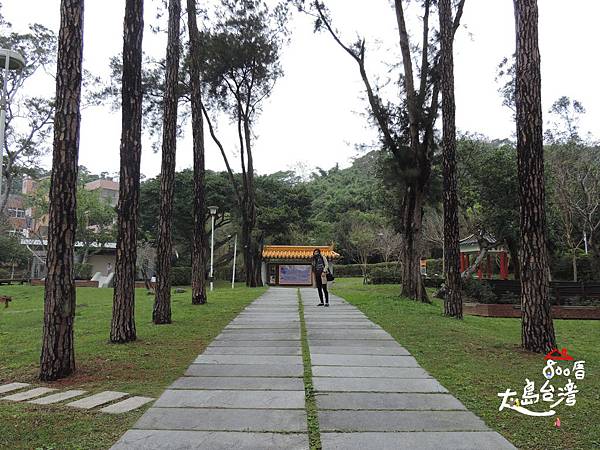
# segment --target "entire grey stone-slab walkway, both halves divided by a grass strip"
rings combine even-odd
[[[302,289],[324,449],[514,449],[390,335]],[[297,291],[234,319],[113,449],[306,449]]]

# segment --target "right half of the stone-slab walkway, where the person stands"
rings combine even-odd
[[[354,306],[302,301],[323,449],[514,449]]]

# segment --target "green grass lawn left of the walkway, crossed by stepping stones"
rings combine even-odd
[[[43,288],[0,286],[10,295],[0,308],[0,384],[20,381],[35,386],[116,390],[156,397],[181,376],[227,323],[264,292],[226,283],[209,293],[208,304],[191,304],[191,290],[173,294],[171,325],[152,324],[153,296],[136,292],[138,340],[108,342],[112,289],[79,288],[75,320],[77,372],[55,383],[37,381],[43,322]],[[135,423],[143,409],[108,415],[60,406],[0,401],[0,448],[106,449]]]

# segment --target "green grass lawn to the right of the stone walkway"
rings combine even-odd
[[[520,348],[519,319],[446,318],[439,300],[431,305],[413,302],[399,296],[398,285],[364,286],[362,279],[337,279],[333,291],[389,332],[467,408],[515,446],[600,448],[600,322],[554,321],[559,348],[566,347],[576,360],[586,361],[585,379],[576,381],[580,391],[577,403],[556,407],[562,422],[561,428],[556,428],[555,417],[498,411],[499,392],[512,388],[521,397],[525,378],[535,381],[537,392],[545,381],[543,356]],[[551,383],[558,389],[564,382],[559,384],[555,377]],[[530,408],[548,409],[540,405]]]

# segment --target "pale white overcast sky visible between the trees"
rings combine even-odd
[[[41,23],[58,32],[59,0],[3,0],[2,13],[16,30]],[[385,64],[399,63],[398,35],[389,0],[327,0],[335,25],[346,40],[365,36],[372,76],[386,76]],[[587,114],[582,129],[599,136],[600,1],[539,1],[542,99],[544,111],[562,95],[580,100]],[[156,0],[146,2],[146,25],[155,22]],[[84,66],[107,77],[109,58],[122,49],[123,0],[85,3]],[[410,14],[417,10],[409,11]],[[435,17],[437,20],[437,16]],[[418,26],[416,15],[411,23]],[[457,126],[492,138],[512,137],[511,112],[502,106],[495,82],[500,60],[514,52],[512,0],[467,0],[456,36],[455,77]],[[372,144],[377,133],[364,117],[367,103],[355,63],[328,35],[314,34],[310,18],[295,15],[291,42],[283,50],[285,72],[256,126],[255,167],[259,173],[306,167],[347,166],[356,145]],[[418,30],[417,30],[418,34]],[[414,34],[415,36],[417,34]],[[145,33],[144,50],[164,56],[164,36]],[[376,50],[378,49],[378,50]],[[39,76],[26,89],[51,93],[54,82]],[[544,117],[545,122],[549,117]],[[223,121],[219,131],[235,155],[234,133]],[[208,137],[208,135],[207,135]],[[120,113],[108,106],[82,112],[80,164],[94,172],[118,172]],[[221,157],[207,140],[206,164],[222,169]],[[142,173],[160,171],[160,155],[144,142]],[[48,164],[49,164],[48,158]],[[191,167],[191,136],[178,142],[177,169]],[[48,165],[47,164],[47,165]]]

